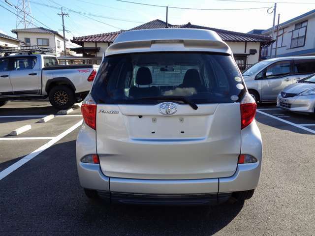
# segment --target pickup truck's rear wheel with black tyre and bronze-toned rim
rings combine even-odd
[[[58,85],[49,91],[49,101],[57,109],[68,109],[75,102],[75,94],[65,85]]]

